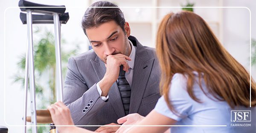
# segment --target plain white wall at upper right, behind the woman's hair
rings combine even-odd
[[[251,11],[251,37],[256,39],[256,4],[253,0],[224,0],[224,6],[244,6]],[[250,11],[246,8],[224,10],[224,46],[243,66],[250,70]],[[255,66],[252,67],[256,79]]]

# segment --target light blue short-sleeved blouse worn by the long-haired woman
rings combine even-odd
[[[194,73],[197,76],[197,73]],[[171,127],[171,133],[255,133],[256,130],[256,108],[236,107],[235,109],[223,101],[207,97],[198,85],[198,79],[193,86],[195,96],[201,100],[198,103],[193,100],[186,91],[186,77],[175,74],[171,81],[169,91],[169,102],[181,116],[170,111],[164,97],[160,97],[155,111],[177,121],[176,125],[226,125],[207,127]],[[204,80],[201,80],[202,87],[207,91]],[[231,111],[251,111],[251,122],[231,122]],[[248,115],[248,113],[246,114]],[[249,116],[245,116],[249,120]],[[234,114],[233,114],[234,118]],[[237,117],[241,119],[240,117]]]

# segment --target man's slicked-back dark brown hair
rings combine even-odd
[[[91,5],[91,7],[118,7],[108,1],[98,1]],[[125,18],[120,8],[87,8],[82,19],[82,28],[85,35],[86,29],[98,27],[105,22],[115,21],[123,31],[125,31]]]

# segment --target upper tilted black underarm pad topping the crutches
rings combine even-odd
[[[66,11],[66,8],[40,8],[40,7],[65,7],[65,6],[43,5],[38,3],[32,3],[26,0],[20,0],[19,7],[25,7],[25,8],[20,8],[21,11],[26,11],[30,9],[30,10],[38,10],[38,11],[50,11],[50,12],[55,12],[59,14],[64,14],[64,12]]]

